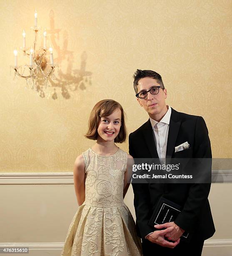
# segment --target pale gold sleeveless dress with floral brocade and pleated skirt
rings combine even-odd
[[[102,156],[91,148],[85,161],[85,202],[67,232],[62,256],[140,256],[141,240],[123,201],[127,153]]]

